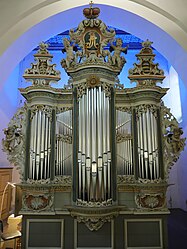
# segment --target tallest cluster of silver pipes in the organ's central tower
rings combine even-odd
[[[78,197],[85,201],[110,198],[109,98],[100,86],[88,88],[79,99],[78,155],[82,155],[78,157]]]

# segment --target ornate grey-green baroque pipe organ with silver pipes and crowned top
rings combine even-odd
[[[50,240],[49,248],[92,247],[96,237],[89,237],[82,224],[96,233],[108,229],[110,248],[167,248],[167,178],[184,148],[183,132],[162,102],[168,89],[157,86],[164,72],[154,63],[152,43],[142,43],[128,76],[136,86],[125,88],[117,76],[128,47],[97,18],[99,12],[92,4],[84,9],[86,19],[63,40],[61,66],[71,82],[66,87],[50,86],[60,72],[51,64],[48,45],[39,45],[35,63],[23,75],[32,85],[19,89],[25,105],[4,130],[4,151],[22,177],[17,188],[23,248],[35,248],[27,240],[29,224],[39,214],[61,225],[65,220],[65,230],[71,226],[72,239],[65,233],[59,246]],[[138,222],[146,238],[151,231],[158,240],[135,246],[130,227]],[[41,230],[40,221],[37,226]],[[77,239],[81,231],[88,242]]]

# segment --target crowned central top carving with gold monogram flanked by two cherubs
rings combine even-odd
[[[62,52],[66,52],[66,57],[62,59],[61,65],[67,72],[93,63],[120,72],[126,63],[121,53],[126,53],[127,47],[122,46],[120,38],[114,42],[115,30],[109,29],[97,19],[100,12],[98,10],[92,6],[84,9],[83,13],[87,19],[83,20],[77,29],[70,30],[70,40],[63,40]],[[110,50],[105,49],[108,43]]]

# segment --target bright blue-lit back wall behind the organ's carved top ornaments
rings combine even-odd
[[[128,70],[133,67],[133,63],[137,62],[136,54],[139,53],[141,49],[142,40],[138,37],[131,35],[122,30],[116,30],[116,36],[123,40],[123,46],[129,46],[128,53],[125,55],[127,63],[125,64],[121,74],[119,75],[120,83],[123,84],[126,88],[131,88],[135,86],[135,83],[130,83],[128,79]],[[68,82],[68,76],[65,73],[64,69],[60,65],[60,61],[65,57],[65,54],[61,52],[63,47],[63,38],[69,38],[68,31],[65,31],[61,34],[58,34],[49,40],[46,43],[49,44],[49,51],[54,56],[53,63],[56,64],[56,69],[61,72],[61,80],[57,84],[53,84],[53,87],[62,88]],[[154,45],[154,44],[153,44]],[[28,83],[25,82],[22,75],[26,68],[30,68],[31,62],[34,61],[33,55],[36,53],[37,48],[35,48],[30,54],[28,54],[19,64],[20,71],[19,74],[19,87],[26,87]],[[169,62],[156,50],[155,62],[159,63],[160,68],[164,70],[166,78],[162,84],[162,87],[169,88],[167,95],[163,98],[163,101],[166,106],[171,108],[171,112],[177,118],[179,122],[182,121],[182,111],[181,111],[181,99],[180,99],[180,79],[177,72],[169,64]],[[175,99],[175,102],[173,101]],[[21,100],[20,96],[20,100]],[[19,101],[20,101],[19,100]]]

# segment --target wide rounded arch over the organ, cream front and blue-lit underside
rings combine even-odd
[[[63,3],[63,5],[59,2],[50,5],[46,3],[46,5],[38,7],[38,9],[30,9],[27,16],[25,14],[22,19],[18,20],[17,24],[14,24],[7,32],[2,34],[0,68],[4,73],[1,75],[0,89],[18,62],[36,47],[41,40],[47,40],[50,36],[64,29],[76,27],[83,19],[82,5],[86,1],[77,1],[76,5],[81,5],[81,7],[76,8],[73,8],[75,4],[71,1],[67,2]],[[154,47],[168,59],[181,79],[187,82],[185,73],[187,38],[185,31],[181,28],[182,24],[178,25],[179,22],[176,18],[166,15],[167,13],[161,11],[156,5],[151,5],[152,8],[146,6],[146,1],[142,1],[144,6],[139,1],[128,1],[125,3],[124,1],[118,1],[115,4],[117,7],[114,7],[110,0],[102,2],[108,4],[98,5],[101,8],[100,18],[103,21],[109,25],[124,29],[143,40],[147,38],[152,40]],[[74,18],[71,18],[72,16]],[[46,19],[46,17],[48,18]],[[110,22],[109,17],[111,17]],[[143,17],[147,18],[147,20]],[[158,26],[152,22],[155,22]],[[176,32],[173,33],[169,30],[169,24],[173,25],[172,30]]]

